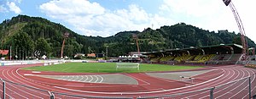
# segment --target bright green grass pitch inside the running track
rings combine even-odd
[[[180,69],[199,69],[203,66],[173,66],[165,64],[141,63],[140,69],[118,69],[116,63],[61,63],[49,66],[23,68],[26,70],[55,71],[68,73],[138,73],[151,71],[175,71]]]

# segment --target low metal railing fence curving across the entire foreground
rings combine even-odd
[[[137,96],[137,99],[145,98],[245,98],[256,99],[256,81],[255,74],[241,78],[239,80],[233,80],[223,85],[218,85],[210,88],[205,88],[197,91],[188,91],[177,94],[166,94],[162,96]],[[46,91],[32,86],[21,85],[9,80],[0,81],[0,96],[3,99],[11,98],[64,98],[64,99],[132,99],[133,97],[126,96],[85,96],[73,95],[71,93],[62,93],[56,91]],[[236,97],[235,97],[236,96]],[[136,96],[135,96],[136,97]]]

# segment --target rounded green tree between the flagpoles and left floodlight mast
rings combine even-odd
[[[49,43],[42,37],[38,38],[36,41],[36,51],[40,52],[38,57],[42,57],[43,55],[48,55],[50,51]]]

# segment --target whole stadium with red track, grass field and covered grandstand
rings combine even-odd
[[[255,60],[241,60],[241,50],[240,45],[221,44],[147,52],[142,63],[1,61],[1,96],[249,98],[256,93],[256,70],[244,64],[253,68]]]

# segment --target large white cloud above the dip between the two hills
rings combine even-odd
[[[135,4],[129,5],[128,9],[111,11],[87,0],[53,0],[42,4],[40,9],[53,19],[73,25],[74,30],[85,36],[113,36],[119,31],[143,30],[152,24],[157,27],[167,22]]]

